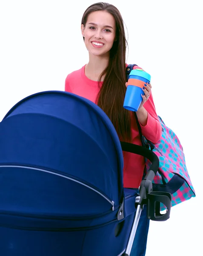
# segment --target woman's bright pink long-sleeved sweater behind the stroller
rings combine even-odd
[[[97,81],[92,81],[85,75],[85,66],[83,66],[80,70],[76,70],[66,77],[65,91],[77,94],[95,103],[99,86]],[[148,101],[144,104],[144,108],[148,111],[148,119],[145,126],[140,124],[142,134],[152,143],[157,143],[161,137],[161,125],[154,107],[152,92]],[[132,143],[141,145],[136,120],[133,115]],[[124,152],[123,186],[126,188],[138,188],[143,177],[144,166],[144,157]]]

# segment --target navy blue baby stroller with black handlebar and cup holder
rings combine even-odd
[[[139,195],[123,189],[122,149],[152,162]],[[158,166],[89,100],[26,97],[0,122],[0,255],[128,256],[144,204],[148,218],[169,218],[170,194],[152,191]]]

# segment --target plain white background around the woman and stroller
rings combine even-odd
[[[18,101],[64,90],[66,76],[88,61],[80,33],[94,1],[0,0],[0,119]],[[127,63],[152,76],[157,113],[183,145],[197,197],[152,222],[146,256],[200,256],[203,204],[203,18],[197,0],[112,0],[128,29]]]

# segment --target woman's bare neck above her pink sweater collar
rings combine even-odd
[[[94,81],[98,81],[100,74],[109,64],[109,56],[93,56],[89,54],[89,62],[85,67],[86,76]],[[102,77],[101,81],[103,81]]]

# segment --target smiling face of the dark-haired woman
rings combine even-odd
[[[82,35],[89,53],[97,56],[109,56],[115,35],[114,17],[105,11],[91,12],[85,26],[81,25]]]

